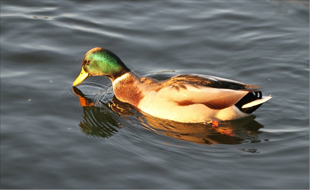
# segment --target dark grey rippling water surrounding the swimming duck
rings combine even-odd
[[[0,3],[1,189],[309,189],[309,1]],[[217,131],[157,120],[104,76],[72,89],[97,46],[273,98]]]

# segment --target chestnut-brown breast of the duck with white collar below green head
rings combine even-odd
[[[144,97],[139,89],[139,76],[133,71],[126,72],[112,81],[113,91],[117,99],[138,107]]]

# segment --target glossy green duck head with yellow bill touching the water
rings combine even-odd
[[[88,76],[108,76],[112,82],[119,76],[130,71],[122,60],[112,51],[96,47],[89,50],[82,61],[82,71],[73,82],[73,86],[80,84]]]

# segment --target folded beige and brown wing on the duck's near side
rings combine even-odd
[[[259,91],[247,89],[250,87],[256,86],[219,77],[179,75],[163,82],[157,93],[180,106],[200,103],[212,109],[224,109],[236,104],[249,92]]]

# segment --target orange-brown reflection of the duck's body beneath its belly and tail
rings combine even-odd
[[[148,127],[156,132],[179,140],[198,144],[241,144],[259,142],[257,130],[263,127],[251,115],[237,120],[220,122],[218,126],[202,123],[177,123],[170,120],[159,120],[145,116]]]

